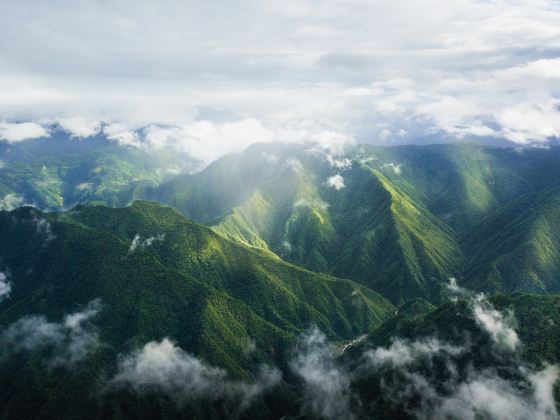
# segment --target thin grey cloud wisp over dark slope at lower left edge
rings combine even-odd
[[[50,322],[44,315],[26,316],[2,331],[0,343],[5,355],[46,351],[50,366],[71,366],[98,345],[98,335],[90,321],[100,311],[101,301],[96,299],[61,322]]]

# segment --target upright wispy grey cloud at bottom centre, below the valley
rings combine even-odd
[[[355,417],[348,374],[337,365],[330,344],[316,327],[300,338],[290,367],[303,380],[306,414],[326,419]]]

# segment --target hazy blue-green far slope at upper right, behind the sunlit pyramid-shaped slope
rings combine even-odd
[[[381,171],[459,235],[519,195],[560,183],[558,147],[361,145],[352,153]]]

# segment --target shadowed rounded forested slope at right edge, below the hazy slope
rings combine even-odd
[[[486,291],[560,291],[560,189],[525,195],[464,240],[464,284]]]

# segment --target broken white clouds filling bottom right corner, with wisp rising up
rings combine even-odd
[[[390,347],[367,350],[365,364],[357,368],[362,373],[356,376],[363,380],[364,371],[370,378],[379,375],[375,380],[381,400],[416,418],[560,418],[554,400],[558,366],[539,370],[522,362],[513,315],[497,311],[484,295],[459,287],[455,279],[449,288],[467,299],[473,320],[499,354],[492,353],[492,360],[481,365],[474,360],[479,351],[485,354],[482,345],[396,338]],[[467,355],[471,357],[465,359]]]

